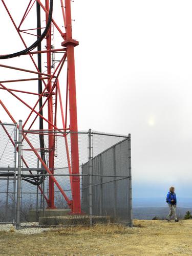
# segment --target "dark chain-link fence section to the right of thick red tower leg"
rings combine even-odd
[[[131,136],[123,137],[92,133],[94,157],[82,166],[82,209],[132,226]]]

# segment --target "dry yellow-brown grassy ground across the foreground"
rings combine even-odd
[[[192,220],[135,220],[133,228],[98,225],[38,234],[0,232],[1,255],[192,255]]]

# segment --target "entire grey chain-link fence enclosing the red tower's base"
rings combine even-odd
[[[7,134],[0,131],[0,136],[6,138]],[[1,194],[3,204],[6,205],[7,197],[10,198],[7,208],[12,209],[9,211],[10,219],[3,219],[3,214],[0,212],[0,222],[13,221],[15,223],[14,200],[9,201],[14,196],[18,201],[16,207],[17,217],[19,217],[16,218],[18,228],[20,226],[92,225],[109,222],[132,226],[131,135],[122,136],[91,130],[76,133],[79,145],[79,175],[74,176],[71,173],[70,140],[74,133],[44,130],[22,131],[22,134],[20,143],[22,164],[20,167],[17,164],[13,172],[14,176],[11,176],[12,186],[9,176],[5,179],[0,177],[0,187],[4,192]],[[53,170],[49,168],[50,135],[54,137]],[[13,138],[14,141],[15,132]],[[9,136],[7,139],[10,139]],[[6,146],[6,142],[4,144]],[[17,144],[18,151],[19,143]],[[12,148],[13,153],[12,155],[10,153],[10,159],[4,160],[4,165],[7,167],[4,168],[6,175],[9,173],[8,166],[15,168],[13,143]],[[11,157],[13,158],[12,165]],[[42,158],[44,158],[46,168],[39,160]],[[0,167],[4,167],[2,164],[3,162],[0,162]],[[48,173],[47,168],[51,172]],[[75,196],[73,195],[74,178],[80,179],[80,195],[77,196],[80,197],[82,212],[79,215],[71,214],[70,209],[70,203]],[[14,187],[14,180],[16,180],[16,187]],[[50,189],[53,189],[50,181],[54,182],[54,207],[52,208],[48,208]],[[7,184],[9,184],[8,189]],[[7,191],[11,191],[11,194]],[[5,210],[6,207],[4,214]]]

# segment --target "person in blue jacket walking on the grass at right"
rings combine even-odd
[[[179,220],[177,219],[177,214],[176,214],[176,206],[177,206],[177,198],[175,194],[175,187],[170,187],[169,192],[166,197],[166,202],[169,207],[169,214],[167,216],[167,221],[170,221],[170,217],[174,217],[175,222],[178,222]]]

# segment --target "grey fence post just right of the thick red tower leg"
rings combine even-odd
[[[90,215],[90,226],[92,226],[92,178],[93,178],[93,166],[92,166],[92,132],[91,129],[89,129],[88,134],[88,141],[89,141],[89,215]]]

